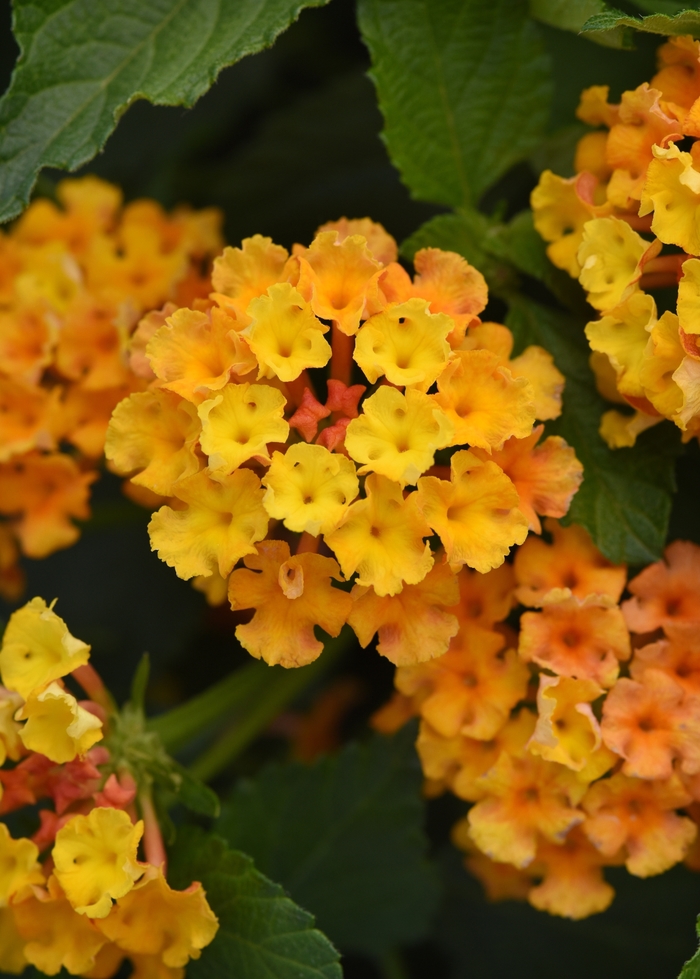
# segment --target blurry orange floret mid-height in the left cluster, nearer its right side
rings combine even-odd
[[[88,391],[126,384],[127,328],[123,311],[91,296],[78,297],[58,334],[56,369]]]

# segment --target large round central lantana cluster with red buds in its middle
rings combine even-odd
[[[291,254],[255,235],[215,260],[208,299],[134,334],[151,383],[116,408],[109,464],[159,495],[161,559],[251,610],[236,635],[268,663],[309,663],[315,627],[346,622],[394,663],[441,655],[461,569],[500,566],[581,481],[535,424],[561,410],[551,356],[512,356],[461,256],[414,265],[369,219]]]

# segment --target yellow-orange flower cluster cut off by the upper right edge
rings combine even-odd
[[[670,38],[650,84],[607,99],[583,92],[578,117],[603,128],[579,141],[575,177],[542,174],[535,227],[601,314],[586,327],[601,394],[634,409],[606,412],[602,437],[630,446],[668,418],[687,441],[700,434],[700,41]],[[648,290],[668,287],[675,312],[659,316]]]

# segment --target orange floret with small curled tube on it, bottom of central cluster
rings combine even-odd
[[[229,580],[231,608],[255,609],[236,628],[241,645],[270,665],[311,663],[323,651],[314,626],[337,636],[352,608],[350,595],[331,585],[331,578],[342,580],[337,563],[319,554],[290,557],[289,546],[277,540],[258,544],[244,563]]]

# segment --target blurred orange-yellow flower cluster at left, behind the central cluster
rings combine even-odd
[[[0,594],[23,581],[18,546],[45,557],[89,516],[114,407],[147,381],[128,356],[144,312],[207,295],[221,248],[216,210],[122,208],[95,177],[58,186],[0,231]],[[173,307],[175,308],[175,307]]]

